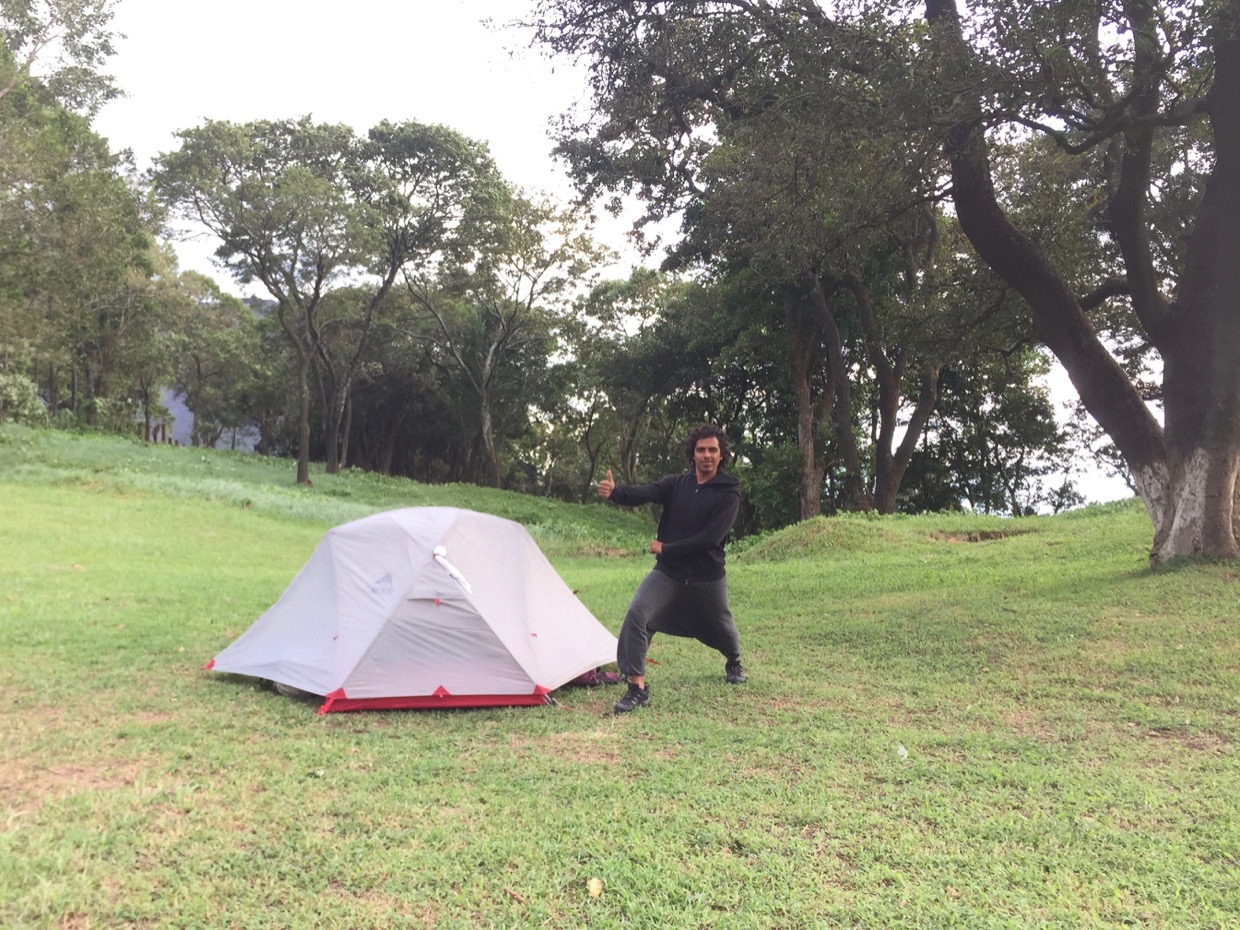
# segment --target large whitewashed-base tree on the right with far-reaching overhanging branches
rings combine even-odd
[[[867,125],[884,139],[900,130],[900,148],[858,143],[857,157],[940,157],[965,236],[1024,299],[1122,453],[1154,522],[1152,562],[1240,556],[1234,0],[980,0],[967,10],[955,0],[546,0],[539,12],[539,36],[591,69],[594,113],[565,123],[562,149],[587,191],[620,187],[658,205],[668,174],[698,175],[719,114],[796,105],[786,88],[848,103],[835,112],[858,139]],[[853,93],[859,84],[867,93]],[[1078,164],[1094,210],[1061,222],[1086,224],[1102,255],[1092,267],[1065,264],[1018,222],[993,153],[1034,135]],[[1117,310],[1099,311],[1109,305]],[[1110,351],[1120,317],[1162,362],[1166,425]]]

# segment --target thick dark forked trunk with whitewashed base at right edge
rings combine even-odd
[[[967,61],[952,0],[930,0],[928,19],[947,61]],[[1126,138],[1126,172],[1112,201],[1133,305],[1163,358],[1167,430],[1091,329],[1079,299],[1040,249],[999,207],[990,151],[973,119],[947,133],[952,196],[977,253],[1028,303],[1039,336],[1063,363],[1085,409],[1123,455],[1154,525],[1154,565],[1189,556],[1236,558],[1240,465],[1240,42],[1216,42],[1208,113],[1215,165],[1188,243],[1173,316],[1153,306],[1152,269],[1142,253],[1142,139]],[[978,104],[980,113],[980,104]]]

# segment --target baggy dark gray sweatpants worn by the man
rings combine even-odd
[[[740,657],[740,636],[728,609],[728,579],[677,582],[651,572],[637,585],[620,626],[616,665],[622,675],[646,673],[646,650],[656,632],[688,636],[719,650],[729,661]]]

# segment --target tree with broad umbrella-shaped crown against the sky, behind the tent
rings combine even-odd
[[[298,484],[310,481],[310,376],[325,384],[327,469],[341,464],[348,391],[374,314],[410,263],[433,264],[471,228],[475,198],[498,184],[485,146],[443,126],[382,123],[358,140],[343,125],[208,120],[156,160],[174,208],[218,239],[216,255],[242,283],[259,281],[296,353]],[[485,212],[485,211],[484,211]],[[321,331],[325,295],[365,281],[343,357]],[[362,293],[356,291],[355,293]]]

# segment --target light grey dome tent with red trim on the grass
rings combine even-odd
[[[616,639],[525,527],[407,507],[330,529],[207,668],[322,696],[319,713],[541,704]]]

